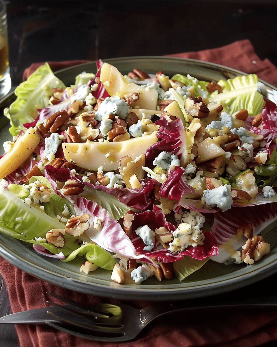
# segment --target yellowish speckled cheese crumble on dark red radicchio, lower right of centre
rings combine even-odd
[[[168,248],[170,252],[184,251],[188,246],[203,245],[205,238],[199,226],[192,226],[190,223],[180,223],[178,228],[172,232],[172,235],[173,241],[170,242]]]

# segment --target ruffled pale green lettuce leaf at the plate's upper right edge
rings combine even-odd
[[[245,109],[249,116],[256,116],[265,105],[262,94],[257,91],[258,76],[255,74],[237,76],[227,81],[221,79],[217,83],[223,87],[222,93],[213,92],[208,95],[208,99],[220,102],[224,111],[230,115]]]

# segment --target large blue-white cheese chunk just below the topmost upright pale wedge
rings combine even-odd
[[[129,106],[119,96],[107,97],[95,112],[95,119],[102,120],[105,115],[117,115],[122,119],[128,116]]]

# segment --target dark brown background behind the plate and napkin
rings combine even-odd
[[[14,85],[33,62],[162,56],[243,39],[277,65],[277,0],[6,3]]]

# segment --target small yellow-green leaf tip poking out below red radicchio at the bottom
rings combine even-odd
[[[182,259],[173,262],[173,271],[179,281],[182,281],[191,273],[199,270],[208,260],[209,257],[204,260],[198,260],[185,255]]]

